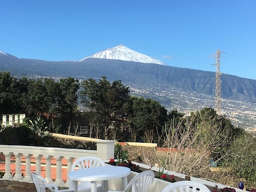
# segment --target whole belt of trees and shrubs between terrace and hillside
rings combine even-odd
[[[168,170],[199,177],[213,159],[255,184],[252,135],[212,108],[184,116],[177,109],[167,111],[155,100],[132,97],[121,81],[15,79],[1,72],[0,113],[26,113],[28,118],[24,125],[4,127],[2,144],[47,145],[48,132],[79,135],[79,126],[86,125],[86,136],[92,138],[154,142],[170,148],[162,162]],[[120,147],[116,151],[118,159],[127,158]]]

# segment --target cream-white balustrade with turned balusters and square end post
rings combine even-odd
[[[83,156],[97,156],[100,159],[108,161],[114,157],[114,144],[112,140],[96,140],[97,150],[83,150],[74,148],[54,148],[54,147],[32,147],[22,145],[0,145],[0,154],[4,155],[5,171],[3,179],[19,180],[32,182],[31,166],[35,165],[35,172],[41,173],[42,167],[45,167],[45,180],[58,186],[68,186],[68,181],[63,180],[63,167],[70,172],[74,159]],[[21,159],[25,159],[22,162]],[[11,161],[13,159],[13,161]],[[52,164],[52,160],[56,164]],[[63,164],[63,160],[66,160]],[[1,162],[0,162],[1,163]],[[15,174],[11,173],[11,164],[15,164]],[[26,164],[26,175],[21,173],[22,164]],[[52,180],[52,167],[56,168],[56,179]],[[65,175],[67,178],[67,175]]]

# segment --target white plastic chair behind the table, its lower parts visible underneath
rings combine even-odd
[[[76,159],[72,164],[71,171],[76,171],[77,169],[85,169],[85,168],[93,168],[97,166],[106,166],[104,161],[99,157],[94,156],[84,156]],[[106,181],[101,181],[97,183],[97,191],[106,191],[105,188],[108,186]],[[92,185],[91,182],[83,181],[78,182],[77,184],[77,192],[81,191],[91,191]]]

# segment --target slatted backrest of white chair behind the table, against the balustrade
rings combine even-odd
[[[72,164],[71,171],[74,171],[76,167],[79,169],[84,169],[84,168],[92,168],[96,166],[106,166],[104,161],[100,159],[99,157],[94,157],[94,156],[85,156],[85,157],[80,157],[79,159],[76,159],[74,163]]]

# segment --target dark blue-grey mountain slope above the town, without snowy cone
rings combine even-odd
[[[0,70],[13,76],[74,77],[76,79],[106,76],[109,81],[121,80],[136,88],[178,88],[183,92],[196,92],[214,96],[215,73],[189,68],[97,58],[84,61],[43,61],[8,57],[0,58]],[[256,102],[256,80],[228,74],[221,75],[223,99]]]

